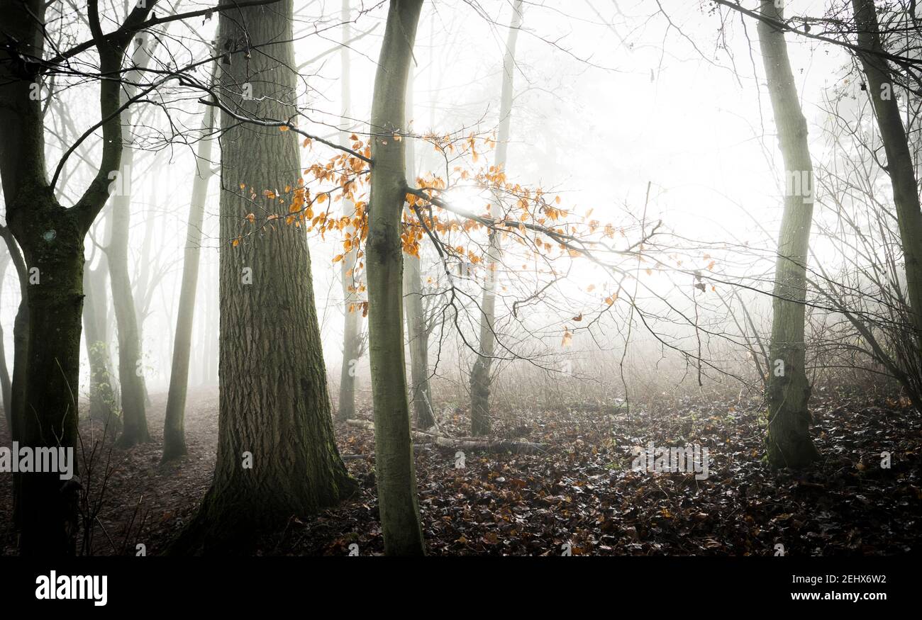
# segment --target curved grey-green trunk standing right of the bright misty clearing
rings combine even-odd
[[[782,19],[774,0],[762,0],[762,15]],[[785,162],[785,210],[774,268],[772,343],[769,356],[768,461],[776,467],[804,467],[818,458],[810,439],[810,383],[805,368],[804,302],[807,258],[813,216],[813,165],[807,143],[807,121],[800,111],[797,88],[783,32],[759,22],[762,63],[772,99],[774,124]]]

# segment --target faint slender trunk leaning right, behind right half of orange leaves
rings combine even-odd
[[[515,0],[513,17],[509,24],[506,53],[502,59],[502,95],[500,100],[500,127],[496,143],[496,168],[504,170],[509,148],[509,130],[513,111],[513,88],[515,72],[515,42],[522,26],[522,0]],[[494,209],[499,208],[493,205]],[[497,214],[494,214],[497,215]],[[472,435],[486,435],[490,432],[491,369],[496,334],[496,269],[500,263],[500,236],[490,233],[490,248],[487,251],[486,274],[483,283],[483,298],[480,300],[480,350],[474,367],[470,371],[470,432]]]

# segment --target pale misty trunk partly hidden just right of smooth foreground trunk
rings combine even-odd
[[[408,76],[407,85],[407,123],[413,122],[413,72]],[[408,126],[412,133],[412,128]],[[416,140],[407,138],[407,182],[416,181]],[[414,214],[409,207],[404,207],[407,218],[412,221]],[[409,345],[410,399],[416,427],[426,429],[435,424],[432,415],[432,393],[429,388],[429,326],[422,304],[422,269],[420,259],[404,254],[403,275],[404,311],[407,314],[407,336]]]

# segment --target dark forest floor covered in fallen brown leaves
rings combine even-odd
[[[664,397],[664,399],[667,397]],[[95,555],[158,555],[211,481],[218,435],[217,390],[189,395],[190,456],[160,465],[165,394],[155,394],[153,442],[112,450],[112,475],[94,531]],[[822,462],[810,472],[773,472],[762,462],[757,399],[689,398],[658,403],[656,415],[623,409],[501,412],[495,437],[545,444],[535,454],[417,452],[423,534],[431,555],[893,555],[922,545],[922,420],[892,399],[815,393]],[[371,419],[368,403],[359,407]],[[671,412],[671,413],[670,413]],[[465,411],[440,422],[467,435]],[[337,424],[337,441],[359,481],[356,495],[317,515],[292,516],[266,535],[260,555],[381,554],[373,434]],[[84,439],[95,432],[81,425]],[[706,479],[694,473],[632,471],[633,446],[709,451]],[[6,430],[0,445],[10,445]],[[881,452],[892,454],[882,466]],[[106,454],[97,467],[104,469]],[[101,464],[100,464],[101,463]],[[700,476],[699,476],[700,477]],[[97,495],[94,487],[91,497]],[[0,478],[0,548],[16,552],[9,525],[11,476]],[[352,546],[353,544],[357,546]],[[778,545],[783,545],[779,547]]]

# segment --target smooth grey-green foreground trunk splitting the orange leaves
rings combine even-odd
[[[407,79],[422,0],[391,0],[372,97],[372,190],[366,245],[378,509],[388,556],[424,553],[404,361],[403,247]]]

